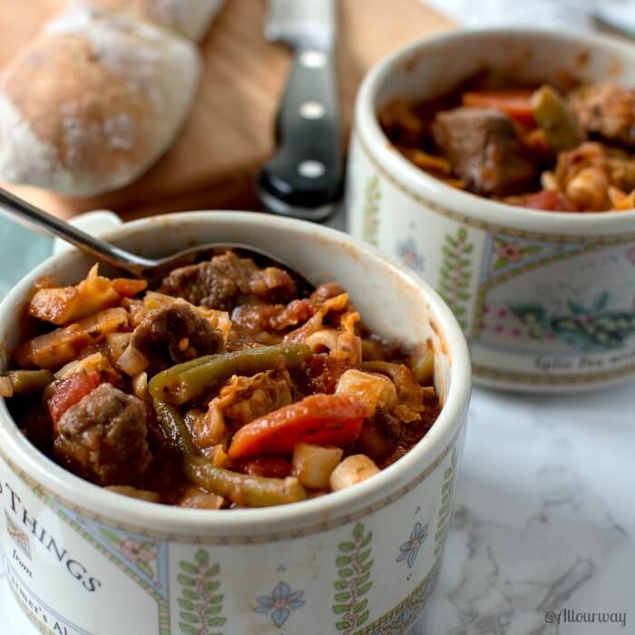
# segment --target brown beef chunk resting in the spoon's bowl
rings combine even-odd
[[[195,305],[226,311],[249,300],[288,302],[297,295],[287,271],[277,267],[259,269],[253,260],[239,258],[232,251],[209,262],[174,269],[159,290]]]

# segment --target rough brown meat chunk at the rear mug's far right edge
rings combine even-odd
[[[635,146],[635,90],[613,84],[583,86],[569,95],[581,128]]]

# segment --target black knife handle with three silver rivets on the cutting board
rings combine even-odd
[[[334,209],[342,181],[333,55],[298,48],[276,123],[278,150],[259,175],[265,207],[322,220]]]

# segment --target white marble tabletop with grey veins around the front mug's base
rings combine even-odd
[[[474,389],[443,569],[411,635],[635,633],[634,388]],[[3,578],[0,625],[8,601]],[[626,611],[626,626],[545,623],[562,609]]]

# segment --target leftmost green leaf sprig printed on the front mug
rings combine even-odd
[[[219,573],[220,566],[210,565],[205,549],[196,552],[194,562],[179,562],[179,627],[185,635],[222,635],[219,629],[227,620],[220,615],[224,596],[217,592]]]

